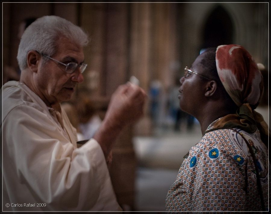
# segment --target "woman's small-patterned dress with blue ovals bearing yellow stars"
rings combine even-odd
[[[259,130],[253,134],[237,131],[254,150],[268,210],[268,149]],[[166,199],[166,211],[260,210],[253,159],[240,134],[230,129],[207,132],[190,149]]]

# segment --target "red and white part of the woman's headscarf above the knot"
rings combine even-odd
[[[218,46],[216,68],[235,104],[249,103],[255,109],[263,94],[263,77],[248,51],[237,44]]]

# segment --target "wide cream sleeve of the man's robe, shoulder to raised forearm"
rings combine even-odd
[[[94,139],[80,148],[48,115],[28,105],[12,109],[2,124],[3,165],[48,210],[117,210],[103,151]],[[7,163],[5,160],[11,160]]]

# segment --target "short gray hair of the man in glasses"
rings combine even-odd
[[[36,50],[52,56],[56,53],[60,37],[66,37],[76,45],[88,44],[88,35],[79,26],[58,16],[44,16],[34,21],[24,31],[17,54],[20,69],[27,67],[27,53]]]

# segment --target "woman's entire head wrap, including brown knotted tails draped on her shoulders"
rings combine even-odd
[[[268,126],[262,115],[254,111],[263,94],[263,77],[254,59],[240,45],[220,45],[216,49],[216,69],[238,109],[236,114],[226,115],[215,122],[213,129],[241,128],[254,133],[258,128],[263,143],[267,145]]]

